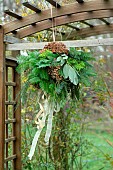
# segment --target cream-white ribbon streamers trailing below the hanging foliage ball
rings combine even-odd
[[[46,134],[45,134],[45,142],[46,144],[49,143],[49,139],[51,136],[51,131],[52,131],[52,120],[53,120],[53,113],[55,111],[55,103],[54,102],[49,102],[47,99],[44,102],[44,107],[42,106],[41,103],[39,103],[40,106],[40,111],[38,112],[38,114],[36,115],[35,118],[35,123],[37,124],[37,129],[38,131],[36,132],[33,141],[32,141],[32,145],[31,145],[31,149],[29,152],[29,159],[31,160],[34,152],[35,152],[35,148],[38,142],[38,139],[40,137],[41,131],[43,129],[43,127],[45,126],[45,121],[46,121],[46,117],[48,116],[48,122],[47,122],[47,130],[46,130]],[[56,112],[59,111],[59,105],[56,105]]]

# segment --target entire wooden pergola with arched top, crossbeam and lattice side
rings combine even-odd
[[[21,170],[21,106],[18,101],[20,91],[20,77],[16,72],[16,55],[24,49],[41,49],[45,43],[25,43],[22,39],[37,32],[53,27],[66,25],[72,29],[67,46],[83,47],[98,45],[113,45],[113,39],[75,40],[99,34],[113,32],[113,23],[108,18],[113,17],[113,0],[76,0],[75,3],[61,6],[54,0],[46,0],[51,9],[41,10],[29,2],[23,3],[26,8],[34,11],[33,14],[22,17],[13,11],[5,13],[14,20],[0,25],[0,170]],[[101,25],[90,23],[93,19],[101,20]],[[86,28],[78,28],[71,23],[80,22]],[[103,24],[104,23],[104,24]],[[66,33],[63,36],[65,40]],[[59,38],[56,38],[59,40]],[[8,57],[7,51],[12,52]],[[10,73],[10,74],[9,74]],[[9,99],[9,92],[11,98]],[[19,104],[18,104],[19,103]],[[10,116],[9,116],[10,113]],[[12,116],[11,116],[12,115]],[[10,131],[9,131],[10,127]],[[9,154],[9,148],[12,153]]]

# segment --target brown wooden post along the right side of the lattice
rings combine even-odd
[[[19,51],[12,52],[13,57],[16,57],[19,54]],[[17,157],[13,161],[13,167],[15,170],[21,170],[21,102],[20,102],[20,75],[13,68],[13,82],[16,83],[16,86],[13,89],[13,100],[16,101],[17,105],[14,110],[14,118],[16,123],[13,124],[13,135],[16,136],[16,140],[13,143],[13,154],[16,154]]]

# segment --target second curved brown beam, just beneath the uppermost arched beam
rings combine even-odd
[[[87,12],[77,13],[70,16],[62,16],[60,18],[54,18],[53,26],[65,25],[73,22],[80,22],[82,20],[90,20],[90,19],[98,19],[104,17],[112,17],[113,10],[100,10],[91,12],[90,15]],[[43,31],[45,29],[51,28],[52,22],[50,20],[42,21],[37,23],[35,27],[29,26],[25,29],[18,31],[20,38],[24,38],[26,36],[32,35],[36,32]],[[93,28],[93,27],[92,27]]]

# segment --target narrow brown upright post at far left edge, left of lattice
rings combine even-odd
[[[0,170],[4,169],[5,146],[5,57],[4,33],[0,29]]]

